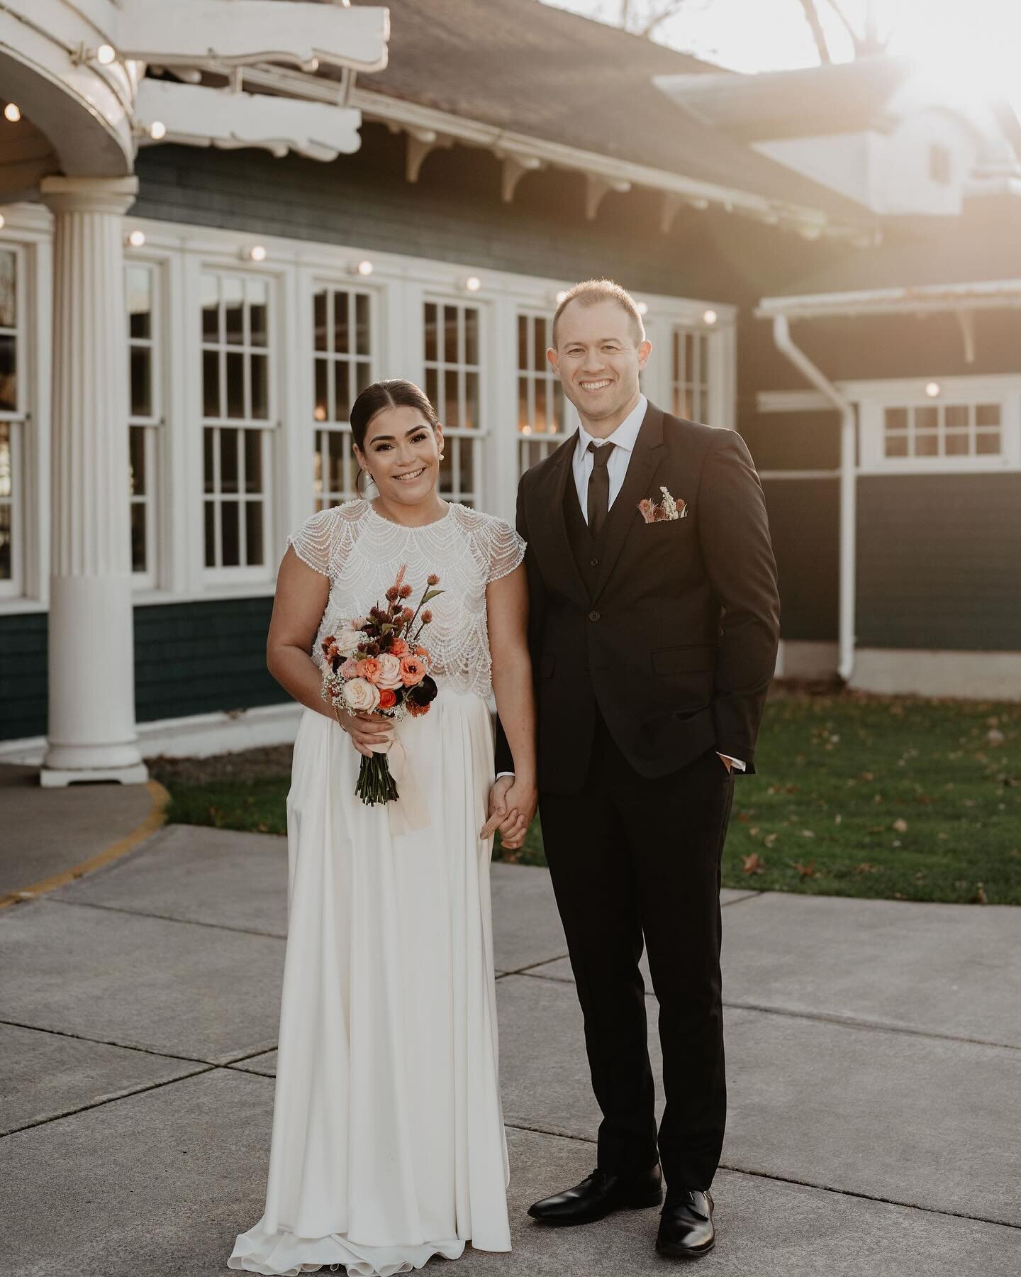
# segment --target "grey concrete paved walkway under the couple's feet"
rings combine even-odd
[[[172,826],[0,911],[5,1274],[226,1271],[264,1198],[285,891],[282,839]],[[725,903],[730,1120],[699,1272],[1021,1273],[1021,909]],[[494,917],[514,1249],[451,1271],[662,1274],[655,1211],[525,1214],[592,1168],[597,1111],[546,872],[494,866]]]

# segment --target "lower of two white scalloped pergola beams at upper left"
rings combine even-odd
[[[163,142],[189,146],[263,147],[276,156],[297,151],[313,160],[336,160],[352,155],[361,142],[361,115],[352,107],[171,80],[143,80],[135,115],[147,134],[160,121],[166,126]]]

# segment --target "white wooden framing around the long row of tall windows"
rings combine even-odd
[[[17,215],[17,216],[15,216]],[[48,581],[48,397],[51,378],[51,239],[52,218],[41,206],[11,206],[0,231],[4,244],[26,245],[29,283],[22,292],[28,306],[27,379],[23,379],[23,563],[19,598],[0,598],[0,612],[42,610]],[[479,428],[465,430],[476,441],[475,504],[513,521],[518,480],[517,314],[556,308],[556,294],[570,280],[490,271],[477,263],[438,262],[408,254],[380,253],[359,245],[250,235],[220,227],[125,217],[125,241],[133,230],[145,235],[142,248],[125,246],[125,264],[158,271],[161,294],[154,315],[158,342],[160,423],[153,425],[156,506],[153,570],[134,581],[134,603],[183,603],[269,596],[276,587],[286,533],[315,510],[313,419],[313,294],[317,286],[368,292],[371,305],[373,379],[406,377],[425,387],[425,299],[471,305],[479,310]],[[253,259],[254,245],[265,258]],[[370,275],[360,275],[360,262]],[[269,419],[267,432],[264,545],[260,567],[207,568],[203,526],[203,400],[200,277],[204,271],[255,273],[269,281]],[[470,277],[480,287],[467,287]],[[627,282],[627,281],[625,281]],[[670,409],[669,344],[673,324],[699,324],[706,309],[717,315],[720,358],[713,366],[715,425],[734,427],[735,308],[711,299],[636,294],[645,304],[645,323],[653,358],[642,377],[648,397]],[[156,331],[158,329],[158,337]],[[574,410],[570,414],[573,430]],[[234,420],[226,423],[235,425]],[[241,427],[244,428],[244,427]],[[453,438],[457,435],[452,433]],[[126,441],[125,441],[126,442]],[[559,442],[559,439],[556,441]]]

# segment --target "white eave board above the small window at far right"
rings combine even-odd
[[[974,283],[927,283],[907,289],[864,289],[860,292],[809,292],[791,298],[763,298],[757,319],[789,315],[914,314],[933,310],[989,310],[1021,305],[1021,280],[980,280]]]

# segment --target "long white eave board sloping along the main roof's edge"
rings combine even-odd
[[[740,212],[770,223],[784,222],[814,234],[854,235],[864,234],[861,226],[840,226],[818,208],[770,200],[747,190],[720,186],[715,183],[685,178],[683,174],[669,172],[665,169],[652,169],[647,165],[632,163],[629,160],[616,160],[596,151],[581,151],[562,142],[549,142],[533,138],[526,133],[514,133],[493,124],[480,124],[459,115],[436,111],[419,102],[408,102],[373,89],[356,86],[350,96],[352,106],[357,106],[369,120],[397,124],[431,142],[436,137],[452,138],[466,146],[486,147],[498,156],[516,156],[525,160],[539,160],[558,169],[592,174],[610,183],[629,183],[632,186],[646,186],[682,195],[694,204],[704,207],[706,202],[719,204],[729,212]]]

